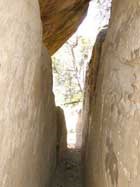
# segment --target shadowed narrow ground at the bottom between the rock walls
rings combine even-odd
[[[81,152],[68,149],[56,169],[52,187],[83,187]]]

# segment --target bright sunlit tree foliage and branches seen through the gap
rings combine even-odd
[[[75,36],[66,42],[59,56],[53,56],[54,91],[60,105],[82,102],[89,48],[90,41]]]

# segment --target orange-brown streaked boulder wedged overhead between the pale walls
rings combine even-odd
[[[39,0],[43,39],[50,54],[76,31],[88,9],[89,0]]]

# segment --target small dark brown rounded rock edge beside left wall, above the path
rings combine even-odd
[[[61,107],[56,107],[57,120],[57,159],[62,160],[67,150],[67,128],[64,111]]]

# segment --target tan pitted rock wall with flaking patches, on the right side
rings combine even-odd
[[[140,186],[139,23],[139,0],[113,0],[88,131],[88,187]]]

